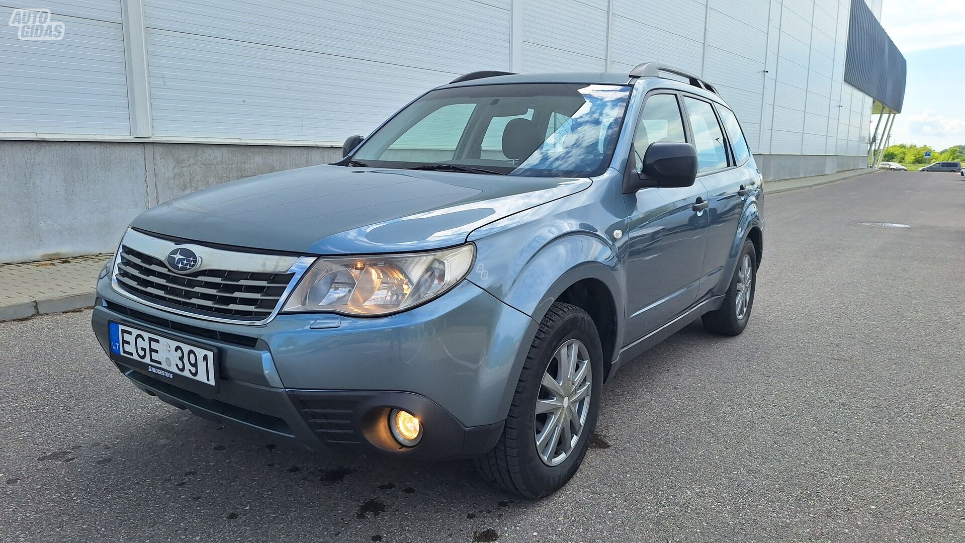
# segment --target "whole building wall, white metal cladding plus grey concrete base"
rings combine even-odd
[[[0,27],[0,168],[38,152],[45,165],[25,170],[33,190],[0,177],[0,191],[71,193],[63,205],[98,211],[113,196],[119,207],[95,221],[0,200],[0,236],[42,232],[39,244],[0,248],[0,262],[108,250],[147,206],[333,159],[346,136],[483,68],[628,72],[660,61],[716,86],[765,176],[865,167],[872,99],[844,82],[851,2],[41,2],[65,23],[63,40],[22,41]],[[121,173],[78,172],[91,155]]]

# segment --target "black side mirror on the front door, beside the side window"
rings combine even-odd
[[[636,169],[637,150],[630,148],[623,176],[623,194],[645,187],[689,187],[697,180],[697,149],[692,144],[656,142],[643,157],[643,168]]]

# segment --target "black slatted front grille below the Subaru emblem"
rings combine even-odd
[[[124,245],[115,279],[124,290],[161,305],[257,321],[271,316],[293,273],[203,270],[179,275],[159,258]]]

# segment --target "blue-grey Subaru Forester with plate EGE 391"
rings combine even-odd
[[[135,387],[308,448],[475,457],[538,498],[620,365],[750,319],[762,177],[697,77],[474,72],[343,149],[134,219],[93,327]]]

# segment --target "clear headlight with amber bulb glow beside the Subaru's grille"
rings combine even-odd
[[[283,312],[379,315],[417,306],[462,281],[470,244],[437,253],[318,258],[291,292]]]

